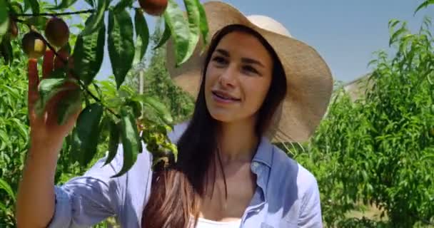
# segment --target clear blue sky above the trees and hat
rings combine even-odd
[[[176,0],[183,5],[182,1]],[[226,0],[244,14],[263,14],[280,21],[292,34],[316,48],[329,64],[338,81],[353,81],[368,73],[367,63],[374,51],[388,49],[388,21],[408,21],[417,31],[423,16],[434,16],[434,6],[413,16],[423,0]],[[201,1],[204,2],[204,1]],[[86,9],[84,1],[75,4]],[[156,18],[146,16],[151,29]],[[111,75],[111,63],[106,52],[98,79]]]

